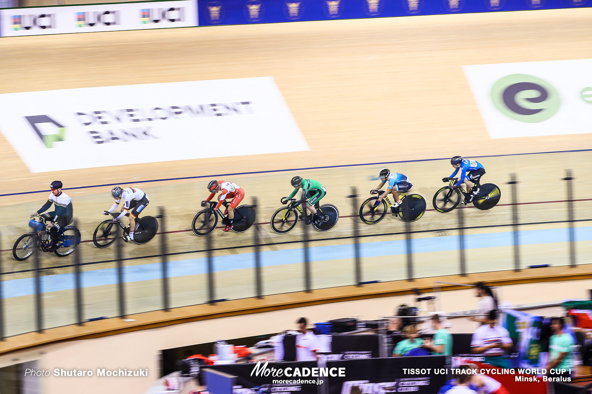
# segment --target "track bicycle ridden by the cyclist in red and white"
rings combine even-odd
[[[224,215],[220,208],[215,209],[214,207],[218,204],[217,201],[202,201],[201,206],[210,204],[210,208],[205,208],[200,212],[197,212],[193,222],[191,223],[191,230],[195,235],[203,237],[204,235],[210,234],[214,231],[218,224],[218,217],[222,219],[222,223],[226,224],[228,221],[227,215]],[[226,208],[229,206],[229,202],[224,201],[222,205]],[[232,221],[231,230],[234,232],[245,232],[255,223],[257,218],[257,212],[255,211],[255,205],[239,205],[234,209],[234,219]]]

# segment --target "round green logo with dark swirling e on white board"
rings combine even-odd
[[[501,77],[491,87],[491,101],[507,117],[539,123],[556,114],[561,104],[555,88],[545,80],[526,74]]]

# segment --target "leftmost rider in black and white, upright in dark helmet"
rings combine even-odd
[[[47,211],[52,204],[54,205],[52,212],[41,215],[46,222],[49,222],[47,223],[47,228],[49,228],[49,233],[52,235],[50,251],[55,250],[54,245],[56,244],[57,233],[60,231],[60,228],[64,228],[72,222],[72,198],[62,192],[62,186],[62,182],[54,180],[49,186],[52,192],[49,194],[47,202],[37,212],[31,214],[31,216],[38,215],[41,212]]]

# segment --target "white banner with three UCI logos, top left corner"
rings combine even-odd
[[[197,26],[197,1],[0,9],[0,36]]]

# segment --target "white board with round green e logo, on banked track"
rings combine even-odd
[[[592,59],[463,69],[491,138],[592,133]]]

